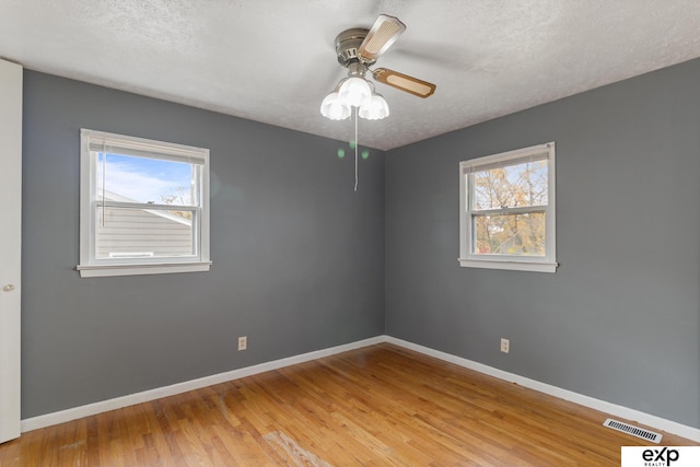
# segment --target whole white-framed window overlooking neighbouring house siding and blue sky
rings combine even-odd
[[[81,277],[208,271],[209,150],[82,129]]]

